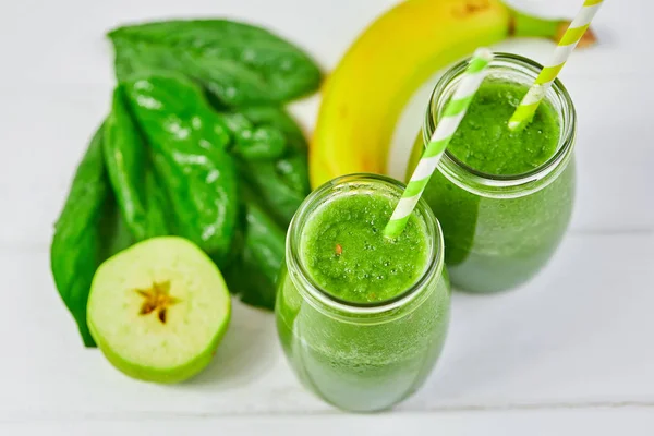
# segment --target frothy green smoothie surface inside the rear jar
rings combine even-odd
[[[559,142],[559,120],[552,104],[541,102],[523,130],[508,128],[526,90],[526,85],[516,82],[484,81],[448,150],[469,167],[495,175],[522,174],[545,164]]]

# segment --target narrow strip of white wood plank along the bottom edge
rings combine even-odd
[[[386,415],[294,415],[172,419],[144,416],[138,420],[32,421],[0,423],[0,432],[11,436],[172,436],[220,434],[241,436],[293,435],[530,435],[530,436],[650,436],[654,413],[647,408],[453,412],[437,414]],[[5,432],[5,433],[4,433]]]

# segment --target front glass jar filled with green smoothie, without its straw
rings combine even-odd
[[[349,411],[392,407],[432,371],[449,322],[443,234],[425,202],[396,239],[403,185],[355,174],[312,193],[293,218],[276,316],[302,383]]]

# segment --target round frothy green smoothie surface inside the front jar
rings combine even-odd
[[[352,193],[320,205],[302,232],[302,262],[313,280],[353,303],[382,302],[414,284],[426,268],[431,243],[415,215],[402,234],[384,237],[397,198]]]

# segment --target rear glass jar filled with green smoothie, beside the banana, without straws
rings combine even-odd
[[[464,62],[453,66],[436,85],[409,175],[464,69]],[[462,290],[496,292],[528,281],[570,221],[577,126],[560,81],[524,129],[508,129],[541,69],[519,56],[495,55],[423,194],[443,226],[452,286]]]

